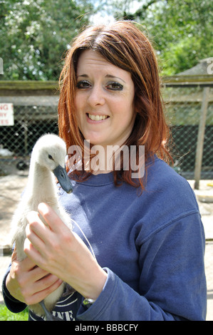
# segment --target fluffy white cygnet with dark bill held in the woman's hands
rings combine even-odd
[[[66,192],[73,190],[71,180],[65,168],[66,143],[57,135],[47,134],[41,136],[34,145],[31,154],[31,163],[28,174],[28,183],[21,202],[11,222],[11,242],[16,243],[16,255],[19,261],[26,258],[24,241],[26,239],[26,216],[32,210],[38,210],[38,204],[46,202],[61,217],[61,220],[71,229],[71,217],[63,210],[58,202],[57,177],[59,184]],[[52,173],[53,172],[53,173]],[[54,175],[53,175],[54,174]],[[40,304],[33,304],[29,308],[36,314],[46,315],[47,320],[54,320],[48,311],[53,309],[56,301],[63,293],[65,283],[52,292]]]

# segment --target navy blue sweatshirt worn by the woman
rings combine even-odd
[[[149,165],[141,195],[126,183],[115,186],[112,173],[73,182],[70,195],[59,191],[108,279],[89,309],[67,287],[54,315],[85,321],[205,319],[205,239],[194,192],[162,160]],[[88,245],[77,225],[73,230]],[[25,308],[10,296],[5,279],[3,292],[11,311]],[[40,318],[30,313],[30,319]]]

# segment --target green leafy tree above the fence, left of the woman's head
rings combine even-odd
[[[58,80],[68,43],[88,24],[85,0],[0,0],[2,80]]]

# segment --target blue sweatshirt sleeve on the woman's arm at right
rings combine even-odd
[[[80,320],[205,320],[204,231],[199,212],[185,213],[135,241],[139,251],[140,287],[135,292],[110,269],[95,303]]]

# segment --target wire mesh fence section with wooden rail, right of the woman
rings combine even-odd
[[[187,179],[194,179],[199,127],[204,118],[204,88],[200,86],[167,87],[167,119],[171,124],[173,137],[173,158],[175,167]],[[202,143],[201,179],[213,177],[213,88],[209,88],[206,119]]]

